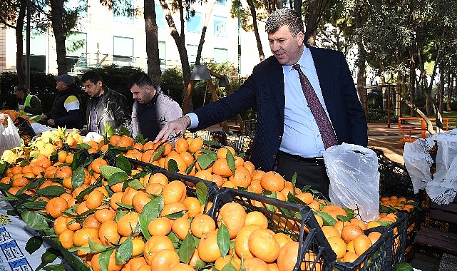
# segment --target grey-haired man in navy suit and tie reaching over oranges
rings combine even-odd
[[[311,185],[328,195],[324,150],[343,142],[368,144],[365,113],[346,59],[339,51],[305,45],[301,17],[290,9],[274,11],[265,29],[273,56],[255,66],[237,91],[168,123],[155,140],[172,131],[206,128],[254,107],[257,130],[251,161],[256,168],[273,170],[277,161],[277,171],[286,180],[297,173],[297,187]],[[303,82],[300,73],[306,77]],[[317,116],[305,97],[305,81],[320,101]],[[327,119],[325,133],[317,118]],[[323,139],[327,134],[330,143]]]

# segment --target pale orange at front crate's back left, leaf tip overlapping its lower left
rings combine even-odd
[[[235,238],[237,233],[245,225],[246,211],[240,203],[225,203],[220,208],[217,218],[218,224],[224,223],[230,233],[230,239]]]

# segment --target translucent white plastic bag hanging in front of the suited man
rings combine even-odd
[[[324,151],[332,204],[358,209],[364,221],[379,215],[378,157],[360,145],[334,145]]]

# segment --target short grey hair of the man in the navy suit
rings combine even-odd
[[[297,36],[299,32],[304,34],[304,26],[302,17],[292,9],[277,9],[272,14],[269,14],[265,31],[267,34],[273,34],[282,26],[289,26],[292,36]]]

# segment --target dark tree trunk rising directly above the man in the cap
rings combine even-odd
[[[65,0],[51,0],[51,22],[54,38],[56,39],[57,74],[68,73],[66,64],[65,39],[62,28],[63,2]]]

